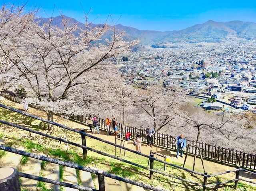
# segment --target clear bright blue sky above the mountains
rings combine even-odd
[[[2,0],[2,4],[22,4],[26,0]],[[256,22],[256,0],[28,0],[26,9],[40,8],[39,16],[64,14],[95,24],[108,18],[109,24],[122,24],[140,30],[181,30],[195,24],[214,20]]]

